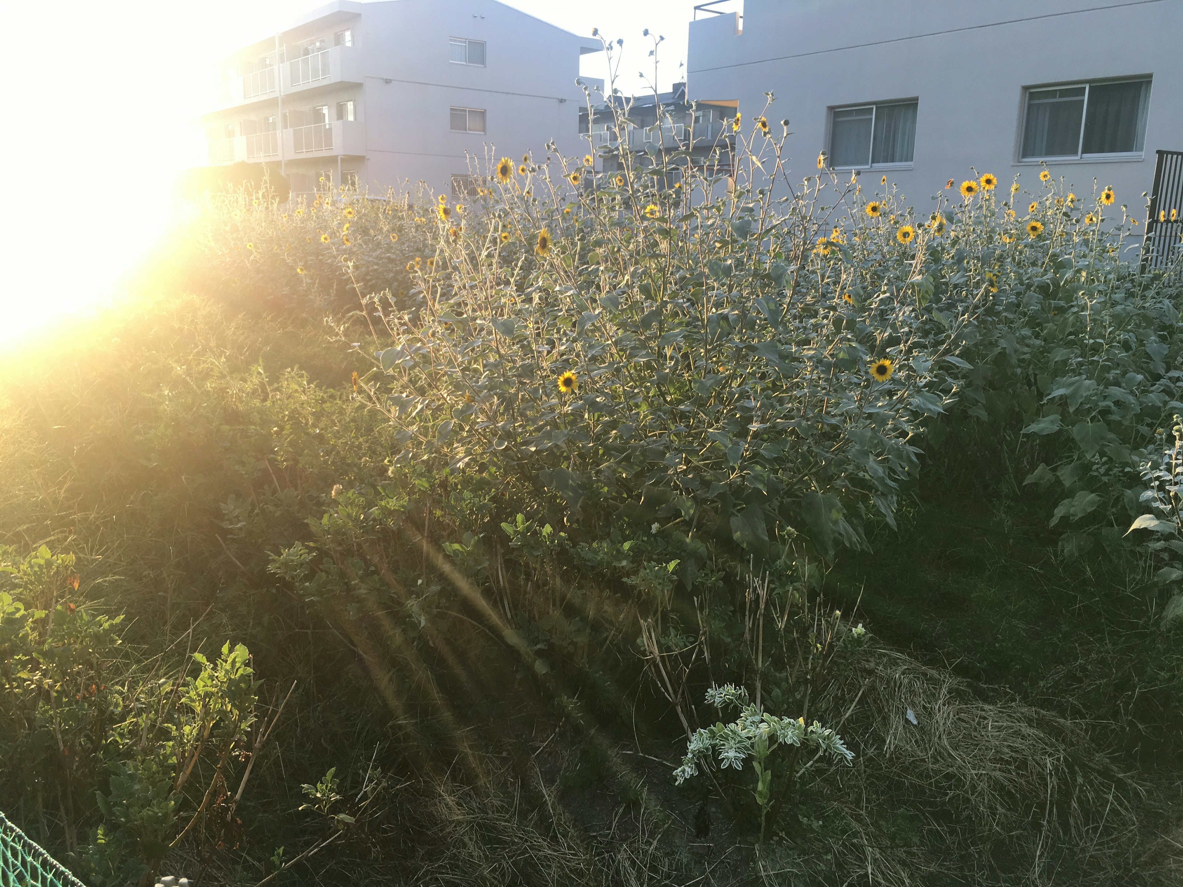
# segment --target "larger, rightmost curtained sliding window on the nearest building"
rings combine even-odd
[[[1022,160],[1140,154],[1150,80],[1027,90]]]

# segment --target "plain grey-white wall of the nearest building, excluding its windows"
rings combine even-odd
[[[916,99],[913,161],[885,171],[920,206],[971,167],[1037,183],[1040,163],[1020,158],[1027,88],[1149,76],[1140,156],[1046,162],[1078,194],[1095,179],[1140,214],[1155,150],[1183,150],[1181,37],[1181,0],[746,0],[742,33],[736,14],[691,24],[687,89],[738,99],[745,118],[772,91],[801,177],[830,148],[835,108]]]

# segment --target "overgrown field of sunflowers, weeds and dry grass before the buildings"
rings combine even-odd
[[[769,114],[211,198],[11,367],[6,814],[96,885],[1169,882],[1181,293],[1107,189],[918,216]]]

